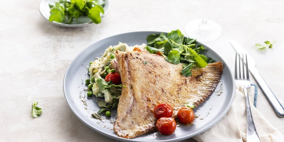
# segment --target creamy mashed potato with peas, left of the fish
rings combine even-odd
[[[101,58],[96,59],[93,64],[91,64],[90,66],[90,78],[95,78],[95,81],[98,78],[102,78],[101,75],[105,72],[104,67],[106,66],[111,66],[110,61],[116,60],[111,59],[110,55],[114,54],[115,51],[120,50],[120,51],[133,51],[133,49],[135,47],[139,47],[141,49],[146,49],[146,44],[142,44],[142,45],[135,45],[135,46],[128,46],[125,43],[119,43],[117,46],[109,46],[105,51],[104,54],[102,55]],[[114,67],[112,67],[114,68]],[[104,79],[104,78],[103,78]],[[96,82],[90,82],[93,85],[93,94],[96,97],[104,97],[105,101],[107,103],[112,104],[113,103],[113,99],[119,99],[120,95],[121,95],[121,89],[118,88],[110,88],[108,89],[104,89],[103,91],[99,90],[99,86]]]

